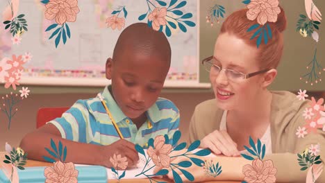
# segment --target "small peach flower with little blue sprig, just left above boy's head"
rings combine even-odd
[[[122,10],[124,12],[124,18],[119,17],[119,14],[122,12]],[[125,26],[126,16],[128,15],[125,6],[119,7],[117,10],[113,11],[112,15],[112,17],[108,17],[108,19],[106,19],[107,27],[110,27],[113,30],[115,30],[115,28],[117,28],[118,30],[122,30],[122,28],[124,28]]]

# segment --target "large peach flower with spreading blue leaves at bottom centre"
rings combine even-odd
[[[204,157],[210,155],[211,152],[208,149],[203,149],[197,151],[196,153],[192,153],[191,151],[195,150],[200,145],[200,141],[194,141],[188,147],[188,150],[185,153],[179,153],[178,155],[171,156],[170,153],[172,153],[173,151],[180,151],[185,149],[185,142],[177,144],[180,138],[181,132],[176,131],[172,139],[169,139],[167,134],[165,134],[165,136],[158,135],[154,140],[149,139],[149,148],[147,149],[147,154],[149,157],[146,156],[146,154],[144,153],[144,149],[141,146],[139,146],[138,144],[135,145],[135,150],[137,150],[138,153],[142,154],[146,161],[146,164],[142,169],[141,173],[135,175],[135,177],[139,175],[145,175],[149,178],[150,182],[157,182],[156,180],[153,180],[152,177],[158,175],[167,175],[169,173],[169,170],[171,170],[174,176],[174,181],[183,182],[180,175],[178,175],[178,173],[175,171],[176,169],[178,169],[179,171],[181,171],[181,173],[183,173],[183,175],[185,175],[188,180],[194,181],[194,176],[190,172],[186,171],[184,168],[189,168],[190,166],[192,166],[192,163],[196,164],[197,166],[204,166],[204,162],[201,159],[190,157],[190,155]],[[188,159],[190,159],[190,161],[178,162],[176,164],[171,163],[171,159],[174,157],[187,157]],[[151,160],[153,161],[154,165],[148,168],[147,165],[149,164],[149,162],[151,162]],[[161,166],[163,167],[163,169],[161,169],[154,175],[147,175],[146,173],[155,166]]]

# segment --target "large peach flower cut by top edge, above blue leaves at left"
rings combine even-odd
[[[77,0],[50,0],[45,5],[45,18],[56,19],[56,23],[62,25],[66,21],[76,21],[76,15],[80,11]]]

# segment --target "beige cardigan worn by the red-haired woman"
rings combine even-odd
[[[297,153],[302,153],[310,144],[320,144],[320,158],[325,159],[325,132],[317,130],[317,134],[308,133],[304,138],[298,138],[297,128],[306,124],[303,110],[310,107],[308,101],[299,101],[290,92],[272,92],[271,107],[271,138],[272,154],[265,155],[272,159],[277,168],[277,182],[306,182],[307,171],[300,171]],[[215,99],[204,101],[195,108],[190,122],[189,141],[203,139],[214,130],[219,130],[223,110],[216,107]],[[325,183],[324,172],[316,181]]]

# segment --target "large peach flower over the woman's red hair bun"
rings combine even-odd
[[[264,25],[267,21],[276,22],[281,9],[278,7],[278,0],[251,0],[247,5],[247,18],[257,18],[258,24]]]

